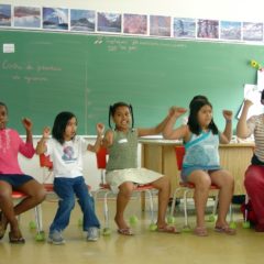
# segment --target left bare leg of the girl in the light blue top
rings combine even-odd
[[[195,185],[195,206],[197,228],[205,228],[205,209],[211,185],[211,179],[204,170],[193,172],[188,180]]]

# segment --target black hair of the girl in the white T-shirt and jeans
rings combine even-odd
[[[67,123],[72,118],[76,118],[76,116],[72,112],[61,112],[57,114],[57,117],[54,120],[52,135],[61,144],[64,143],[64,133],[65,133]],[[77,121],[77,118],[76,118],[76,121]]]

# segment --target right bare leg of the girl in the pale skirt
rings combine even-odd
[[[158,212],[157,212],[157,228],[166,227],[166,210],[169,199],[170,184],[167,176],[152,183],[152,186],[158,189]]]

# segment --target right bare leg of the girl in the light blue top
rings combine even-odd
[[[226,227],[227,215],[233,196],[234,180],[231,174],[227,170],[217,170],[211,173],[211,180],[216,184],[219,190],[219,210],[218,210],[218,220],[217,227]]]

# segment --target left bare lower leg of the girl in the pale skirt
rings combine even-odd
[[[114,221],[119,229],[128,229],[129,226],[124,221],[124,210],[130,201],[131,195],[134,190],[133,183],[127,182],[119,186],[119,194],[117,198],[117,213]]]

